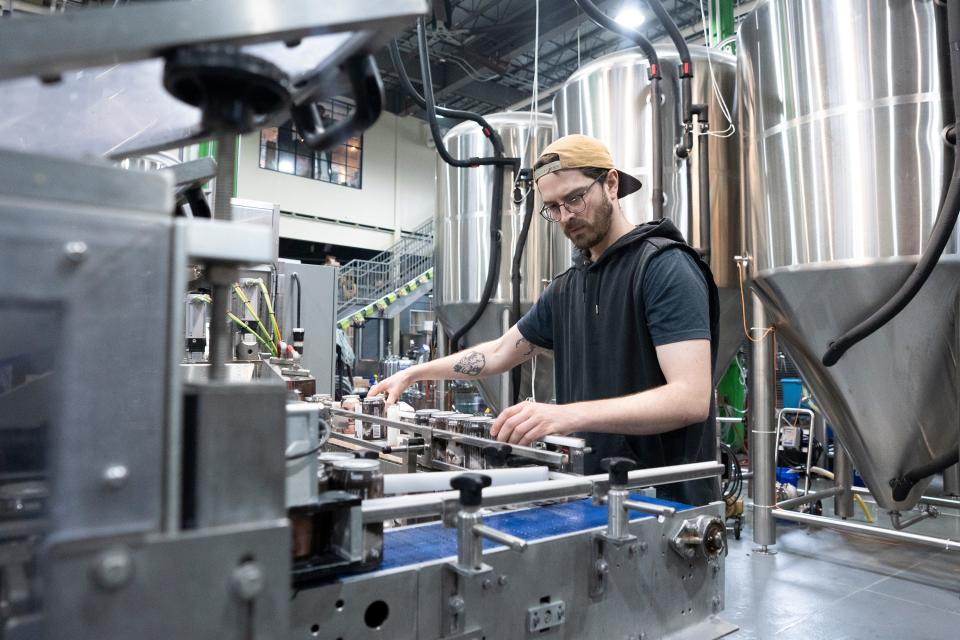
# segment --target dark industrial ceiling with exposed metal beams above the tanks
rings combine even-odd
[[[703,11],[709,0],[702,0]],[[596,4],[616,16],[635,6],[644,22],[637,27],[653,42],[665,32],[645,0],[601,0]],[[749,12],[755,0],[735,0],[735,15]],[[703,43],[701,0],[664,0],[680,31],[691,43]],[[550,96],[580,65],[633,44],[598,27],[573,0],[539,2],[538,86],[540,109],[550,109]],[[534,0],[433,0],[428,17],[430,64],[438,104],[489,113],[529,108],[533,92],[535,26]],[[398,38],[407,73],[420,87],[416,30]],[[394,113],[416,113],[402,94],[397,74],[386,53],[378,56],[387,89],[387,105]]]

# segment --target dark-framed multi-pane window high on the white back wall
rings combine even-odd
[[[319,103],[325,125],[345,120],[353,105],[342,100]],[[300,139],[293,122],[260,132],[260,168],[359,189],[363,183],[363,137],[354,136],[326,151],[314,151]]]

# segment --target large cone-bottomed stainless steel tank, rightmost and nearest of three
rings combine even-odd
[[[772,0],[740,28],[738,94],[754,286],[877,502],[957,446],[960,260],[831,368],[830,340],[913,269],[949,179],[945,12],[933,0]]]

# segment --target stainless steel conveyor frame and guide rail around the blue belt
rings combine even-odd
[[[720,470],[719,464],[697,463],[634,471],[626,486],[710,477]],[[486,489],[481,506],[518,505],[545,496],[599,499],[608,490],[605,474],[558,477]],[[519,540],[478,524],[478,515],[465,519],[459,499],[457,492],[444,492],[368,500],[363,505],[364,522],[442,515],[459,527],[461,539],[483,527],[479,535],[507,547],[477,556],[479,547],[470,543],[466,550],[460,547],[459,556],[301,591],[291,605],[291,637],[316,635],[323,629],[346,640],[368,637],[375,629],[398,639],[479,640],[527,638],[550,629],[550,637],[557,638],[679,639],[719,638],[736,630],[717,617],[723,609],[722,554],[710,555],[701,550],[702,541],[685,537],[698,531],[705,517],[722,517],[722,503],[675,513],[662,509],[659,517],[634,516],[618,525],[621,535],[615,537],[608,524]],[[479,514],[473,508],[466,511]],[[406,529],[416,532],[416,527]],[[496,615],[490,615],[493,611]]]

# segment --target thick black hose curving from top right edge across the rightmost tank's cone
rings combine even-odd
[[[960,127],[960,6],[956,2],[947,3],[947,44],[950,48],[950,78],[953,83],[953,129],[957,131]],[[953,175],[950,178],[947,195],[940,205],[937,221],[933,225],[930,239],[920,255],[917,266],[900,285],[897,292],[893,294],[893,297],[867,316],[866,319],[830,342],[823,354],[824,365],[828,367],[835,365],[850,347],[890,322],[910,304],[910,301],[919,293],[921,287],[937,266],[940,255],[950,241],[958,214],[960,214],[960,153],[958,153],[958,149],[954,149]]]

